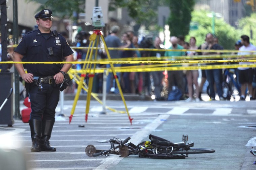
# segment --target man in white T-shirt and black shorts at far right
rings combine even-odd
[[[247,35],[242,35],[241,37],[241,43],[243,44],[242,47],[239,48],[238,55],[241,55],[238,57],[238,59],[245,58],[245,55],[252,55],[256,54],[256,47],[252,44],[250,44],[250,38]],[[250,51],[250,52],[249,52]],[[255,53],[251,52],[255,51]],[[253,62],[239,62],[239,65],[242,64],[253,64]],[[254,70],[249,67],[238,67],[238,77],[239,77],[239,83],[241,84],[241,96],[240,100],[245,100],[245,91],[246,87],[249,91],[249,97],[252,98],[252,81],[253,81],[253,75]]]

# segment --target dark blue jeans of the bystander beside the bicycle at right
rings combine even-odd
[[[222,70],[205,70],[207,80],[210,86],[210,97],[215,98],[214,83],[219,97],[222,97]]]

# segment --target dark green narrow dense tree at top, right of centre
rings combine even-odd
[[[167,0],[170,6],[170,17],[168,25],[171,35],[186,36],[189,33],[191,12],[194,9],[194,0]]]

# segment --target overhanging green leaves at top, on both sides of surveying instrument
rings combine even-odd
[[[55,16],[63,18],[73,17],[73,12],[84,13],[85,0],[26,0],[27,2],[41,3],[38,10],[50,8]],[[109,11],[117,8],[127,8],[128,14],[137,24],[146,27],[157,23],[157,8],[165,5],[166,0],[109,0]],[[75,18],[74,18],[75,19]]]

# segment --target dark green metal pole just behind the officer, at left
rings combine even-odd
[[[18,4],[17,0],[13,0],[13,41],[18,44]],[[15,118],[20,119],[20,84],[19,73],[14,69],[14,84],[15,84]]]

